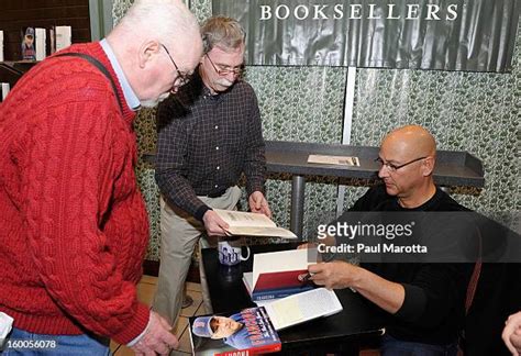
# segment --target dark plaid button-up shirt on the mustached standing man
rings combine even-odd
[[[248,196],[263,191],[266,158],[253,88],[239,80],[212,96],[196,74],[157,110],[156,181],[166,200],[202,220],[218,197],[246,176]]]

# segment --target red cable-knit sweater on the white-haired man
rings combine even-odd
[[[134,113],[100,60],[48,58],[0,104],[0,311],[34,333],[89,330],[126,344],[149,312],[136,299],[148,223],[136,187]]]

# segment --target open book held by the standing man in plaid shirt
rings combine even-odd
[[[230,235],[297,238],[296,234],[284,227],[277,227],[264,214],[221,209],[213,209],[213,211],[230,225],[226,231]]]

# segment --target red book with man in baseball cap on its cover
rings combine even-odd
[[[193,355],[258,355],[276,353],[281,343],[266,310],[189,318]]]

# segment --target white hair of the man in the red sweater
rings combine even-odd
[[[136,0],[118,27],[136,37],[155,37],[165,44],[199,33],[196,18],[180,0]]]

